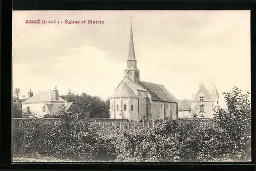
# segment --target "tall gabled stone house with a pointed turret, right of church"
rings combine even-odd
[[[214,109],[219,108],[219,98],[217,88],[210,95],[204,84],[199,84],[199,90],[191,101],[191,111],[199,114],[200,118],[214,118]]]

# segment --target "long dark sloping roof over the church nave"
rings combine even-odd
[[[153,100],[165,101],[165,102],[177,102],[178,100],[166,90],[162,85],[155,84],[152,82],[140,81],[140,84],[143,88],[150,93]]]

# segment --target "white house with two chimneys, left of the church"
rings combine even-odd
[[[76,111],[76,105],[74,102],[69,102],[59,97],[57,88],[53,91],[39,92],[34,95],[31,90],[28,92],[28,99],[22,102],[23,112],[31,112],[38,117],[42,117],[46,114],[55,114],[64,105],[67,111]]]

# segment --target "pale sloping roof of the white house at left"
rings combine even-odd
[[[50,98],[50,94],[51,94],[51,98]],[[33,102],[48,102],[48,101],[64,102],[64,100],[61,97],[59,97],[58,100],[55,100],[53,92],[50,93],[50,91],[45,91],[45,92],[40,92],[35,94],[34,96],[24,101],[22,104],[29,104]]]

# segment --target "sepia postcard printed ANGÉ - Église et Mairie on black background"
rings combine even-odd
[[[250,11],[13,11],[13,162],[251,161]]]

